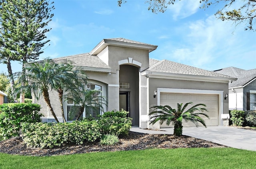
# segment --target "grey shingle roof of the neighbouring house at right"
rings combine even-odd
[[[244,69],[239,69],[236,67],[227,67],[224,69],[216,70],[214,72],[221,73],[223,75],[228,75],[237,78],[236,81],[229,83],[229,87],[239,87],[239,86],[244,86],[248,82],[252,81],[253,79],[256,78],[256,69],[252,70],[244,70]]]

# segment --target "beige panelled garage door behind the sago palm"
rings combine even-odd
[[[160,105],[169,105],[172,108],[177,108],[177,103],[193,102],[194,104],[203,103],[206,104],[209,118],[202,116],[205,120],[206,126],[218,126],[218,94],[182,94],[182,93],[160,93]],[[187,108],[192,107],[189,105]],[[195,126],[192,122],[184,122],[184,127]],[[200,124],[200,126],[202,126]],[[166,128],[166,124],[162,124],[160,128]]]

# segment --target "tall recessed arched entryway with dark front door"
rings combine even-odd
[[[132,125],[139,126],[139,68],[120,65],[119,107],[129,111]]]

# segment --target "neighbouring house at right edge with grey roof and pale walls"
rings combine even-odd
[[[256,110],[256,69],[227,67],[214,72],[237,78],[228,84],[229,110]]]

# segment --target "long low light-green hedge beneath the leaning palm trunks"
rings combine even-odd
[[[101,137],[100,127],[94,121],[71,123],[22,124],[22,138],[28,147],[52,148],[66,144],[93,142]]]

